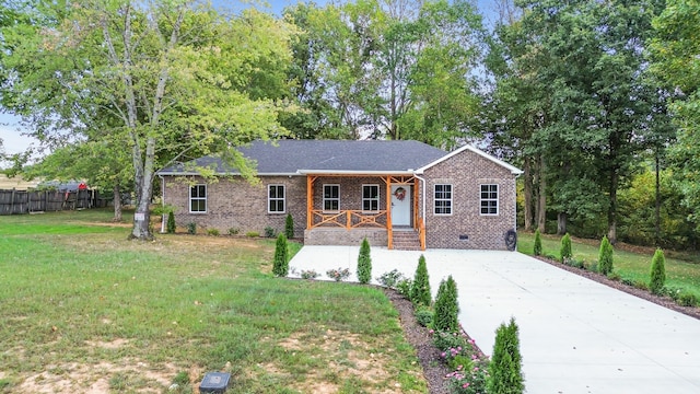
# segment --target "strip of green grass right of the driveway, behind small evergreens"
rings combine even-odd
[[[542,255],[559,258],[561,237],[558,235],[542,235]],[[587,266],[597,263],[599,243],[573,240],[573,257],[584,260]],[[535,235],[533,233],[518,233],[517,250],[525,254],[533,254]],[[615,250],[614,270],[623,279],[634,282],[649,283],[653,250],[644,252],[628,252]],[[668,257],[666,254],[666,287],[685,289],[700,297],[700,264],[693,260]],[[678,255],[678,254],[676,254]],[[682,255],[681,255],[682,256]]]

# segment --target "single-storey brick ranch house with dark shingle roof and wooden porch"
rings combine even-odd
[[[453,152],[418,141],[255,141],[238,151],[257,164],[259,183],[205,157],[159,172],[163,202],[178,225],[241,233],[266,228],[307,245],[388,248],[514,247],[515,178],[521,170],[476,148]],[[220,177],[206,182],[196,170]]]

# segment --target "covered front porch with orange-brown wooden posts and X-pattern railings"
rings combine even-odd
[[[399,232],[411,232],[424,251],[420,201],[421,182],[412,174],[306,174],[305,243],[358,245],[366,237],[392,250]]]

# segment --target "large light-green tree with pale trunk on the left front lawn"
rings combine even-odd
[[[249,92],[260,59],[290,59],[293,28],[254,10],[223,18],[199,1],[82,0],[21,10],[3,28],[3,104],[46,143],[121,141],[136,192],[131,236],[151,239],[162,165],[284,134],[278,103]],[[38,23],[37,23],[38,22]],[[104,127],[105,114],[118,120]],[[250,173],[249,171],[246,173]]]

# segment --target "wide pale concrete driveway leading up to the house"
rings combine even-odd
[[[304,246],[290,262],[325,276],[350,268],[360,248]],[[421,252],[372,247],[372,276],[412,278]],[[433,298],[457,282],[459,322],[487,354],[514,316],[528,393],[700,393],[700,321],[513,252],[429,250]],[[373,280],[376,282],[376,280]]]

